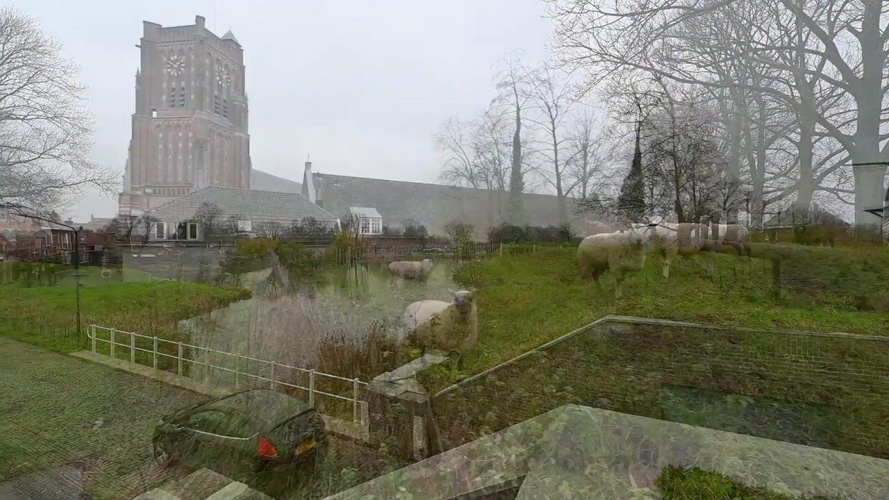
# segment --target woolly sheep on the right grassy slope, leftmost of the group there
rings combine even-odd
[[[577,262],[581,279],[592,278],[597,286],[599,277],[610,270],[614,275],[614,297],[621,298],[621,283],[629,272],[645,267],[645,230],[630,229],[594,234],[583,238],[577,247]]]

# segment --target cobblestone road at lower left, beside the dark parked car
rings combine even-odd
[[[0,498],[132,498],[169,472],[162,415],[194,392],[0,338]]]

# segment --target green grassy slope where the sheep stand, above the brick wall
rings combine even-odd
[[[849,268],[861,268],[861,260],[850,255]],[[477,348],[467,356],[464,372],[436,368],[424,375],[424,383],[431,388],[441,387],[608,314],[738,327],[889,335],[889,314],[856,310],[849,297],[837,294],[836,289],[803,294],[797,289],[802,280],[794,279],[797,288],[784,290],[776,301],[771,262],[723,254],[717,254],[716,260],[717,272],[711,282],[697,259],[675,260],[671,276],[665,280],[661,277],[661,260],[650,258],[644,271],[624,282],[622,301],[614,299],[614,282],[608,274],[602,279],[601,290],[581,282],[575,248],[538,249],[535,254],[469,263],[456,278],[464,286],[477,287]],[[867,262],[862,272],[873,269],[870,266],[874,263]],[[795,266],[805,268],[805,262],[797,260]],[[784,276],[794,277],[789,271]],[[848,287],[853,283],[852,277],[842,282]]]

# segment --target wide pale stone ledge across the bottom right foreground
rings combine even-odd
[[[807,496],[877,500],[889,491],[889,460],[566,405],[326,500],[451,500],[509,488],[518,488],[517,500],[627,498],[634,490],[647,498],[668,464]]]

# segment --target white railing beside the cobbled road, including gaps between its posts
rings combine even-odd
[[[310,407],[322,413],[345,416],[350,410],[353,422],[366,422],[366,402],[362,394],[367,383],[357,378],[99,325],[90,325],[87,335],[90,351],[98,354],[189,376],[196,382],[236,390],[267,387],[304,396]]]

